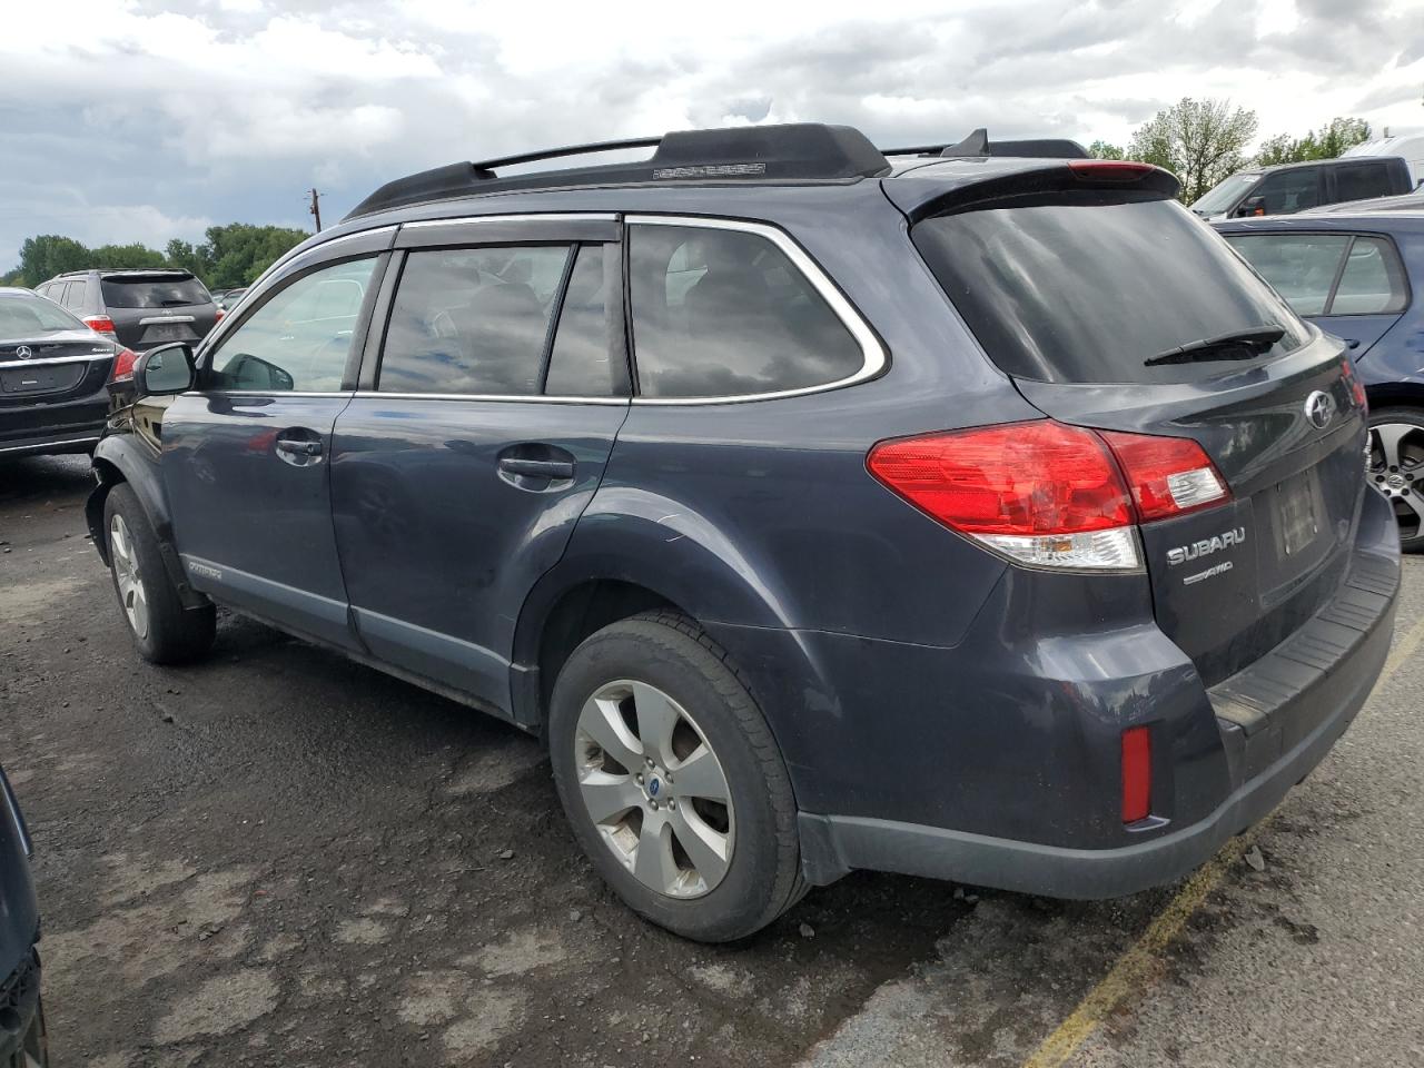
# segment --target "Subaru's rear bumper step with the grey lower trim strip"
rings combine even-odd
[[[1071,899],[1118,897],[1180,879],[1269,815],[1320,763],[1368,698],[1388,655],[1400,584],[1393,524],[1384,534],[1387,540],[1361,538],[1330,604],[1208,692],[1226,766],[1220,800],[1208,815],[1188,826],[1166,823],[1126,836],[1141,842],[1094,849],[802,813],[807,879],[829,883],[853,869],[870,869]]]

